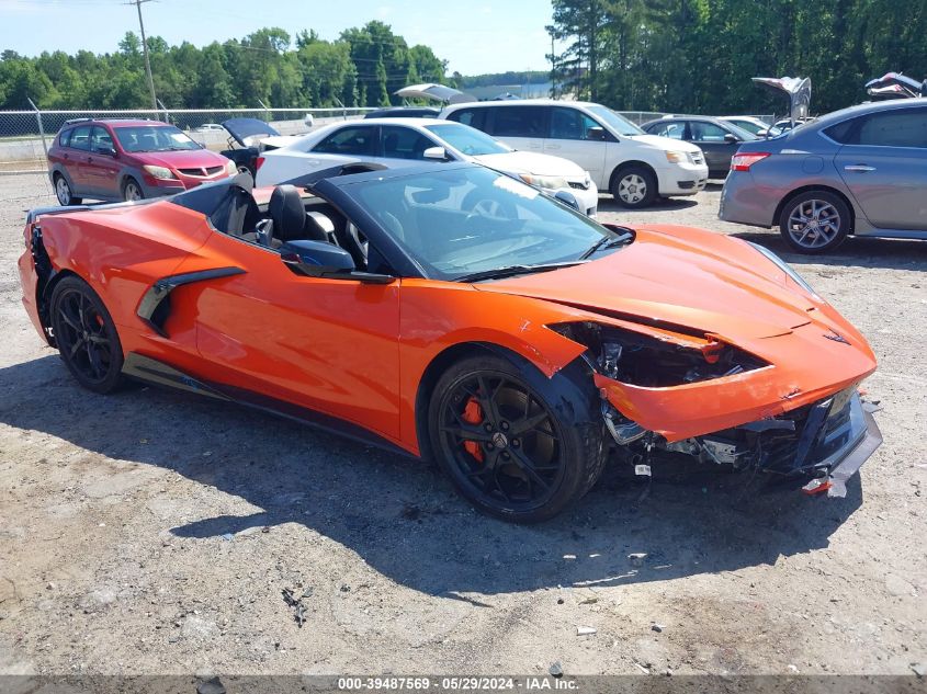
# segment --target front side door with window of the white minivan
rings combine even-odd
[[[596,181],[604,178],[608,143],[615,137],[581,111],[551,106],[544,153],[563,157],[586,169]]]

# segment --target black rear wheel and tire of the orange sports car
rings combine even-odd
[[[61,359],[78,383],[94,392],[122,385],[123,353],[103,302],[83,280],[65,277],[52,293],[52,328]]]

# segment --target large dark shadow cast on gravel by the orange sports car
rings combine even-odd
[[[172,470],[202,485],[204,494],[215,487],[262,509],[244,516],[206,513],[161,528],[178,536],[215,542],[295,523],[341,543],[398,583],[452,598],[772,564],[780,555],[826,547],[861,503],[858,478],[846,499],[825,500],[795,491],[758,496],[737,475],[690,475],[646,487],[609,469],[578,508],[542,525],[517,526],[475,513],[426,464],[195,396],[140,387],[97,396],[77,387],[52,355],[0,369],[0,422]],[[221,494],[215,498],[222,505]],[[630,553],[648,556],[634,567]]]

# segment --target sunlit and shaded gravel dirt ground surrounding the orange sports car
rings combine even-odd
[[[782,253],[871,341],[884,445],[843,500],[608,470],[577,509],[519,527],[427,465],[334,435],[155,388],[81,390],[20,304],[24,211],[50,187],[0,177],[0,673],[912,674],[927,242],[787,254],[720,223],[720,187],[636,214],[603,197],[602,217]],[[302,628],[284,588],[305,595]]]

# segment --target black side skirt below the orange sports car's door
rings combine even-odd
[[[405,448],[400,448],[396,444],[386,439],[351,422],[347,422],[337,417],[317,412],[308,408],[286,402],[285,400],[278,400],[253,390],[246,388],[236,388],[234,386],[225,386],[222,384],[213,384],[194,378],[173,366],[161,361],[129,352],[125,355],[125,363],[123,364],[123,374],[131,378],[144,380],[156,386],[167,386],[178,390],[185,390],[188,392],[195,392],[204,395],[217,400],[225,400],[227,402],[235,402],[251,409],[260,410],[276,417],[283,417],[301,424],[307,424],[315,429],[335,433],[360,443],[376,446],[387,453],[399,455],[406,458],[419,459],[418,456],[412,455]]]

